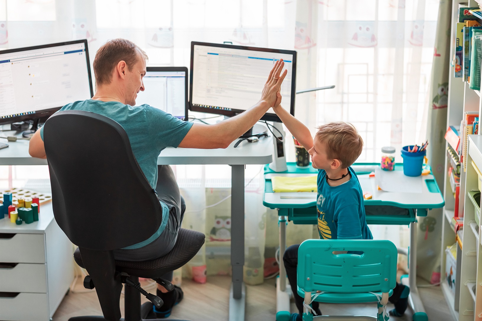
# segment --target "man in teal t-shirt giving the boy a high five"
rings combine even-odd
[[[118,122],[129,136],[134,157],[150,185],[156,189],[162,207],[159,230],[147,240],[114,251],[119,260],[150,260],[167,254],[174,247],[186,205],[180,196],[174,173],[169,166],[157,166],[161,151],[168,147],[226,148],[248,131],[270,107],[281,102],[280,87],[287,74],[281,74],[284,62],[277,61],[270,71],[261,99],[238,116],[215,125],[182,121],[149,105],[134,107],[139,91],[144,91],[146,53],[126,39],[107,41],[95,54],[96,91],[92,99],[68,103],[62,110],[85,110]],[[29,153],[46,158],[43,128],[30,139]],[[158,180],[159,177],[159,180]],[[172,280],[172,272],[163,277]],[[158,286],[157,295],[164,302],[157,317],[168,317],[171,308],[183,297],[179,287],[173,291]]]

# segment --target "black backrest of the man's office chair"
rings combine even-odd
[[[72,110],[51,116],[44,145],[54,217],[72,243],[109,251],[146,240],[162,209],[117,122]]]

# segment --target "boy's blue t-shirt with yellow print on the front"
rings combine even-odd
[[[322,239],[373,239],[366,224],[363,193],[353,168],[350,180],[330,186],[324,169],[318,171],[318,232]]]

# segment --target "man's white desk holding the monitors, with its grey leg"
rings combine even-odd
[[[236,140],[237,141],[237,140]],[[159,155],[158,165],[230,165],[231,166],[231,266],[232,284],[229,295],[229,320],[244,320],[244,166],[269,164],[273,159],[273,138],[263,137],[258,142],[242,141],[234,148],[187,149],[168,147]],[[28,141],[9,143],[0,150],[0,165],[47,165],[46,159],[28,154]]]

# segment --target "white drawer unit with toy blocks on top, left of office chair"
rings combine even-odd
[[[51,205],[31,224],[0,219],[0,320],[51,320],[73,280],[72,250]]]

